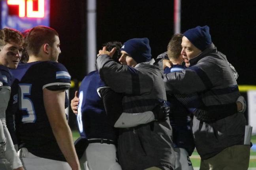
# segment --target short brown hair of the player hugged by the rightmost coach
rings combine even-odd
[[[181,42],[182,42],[182,34],[174,34],[169,41],[167,46],[167,55],[169,59],[178,59],[181,55]]]

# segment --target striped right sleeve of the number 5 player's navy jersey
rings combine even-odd
[[[68,89],[70,87],[71,76],[66,67],[60,63],[47,62],[43,76],[43,89],[48,87]]]

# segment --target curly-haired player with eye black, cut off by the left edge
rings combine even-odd
[[[15,69],[21,59],[23,36],[19,31],[4,28],[0,30],[0,168],[23,170],[21,160],[14,148],[6,127],[12,75],[9,68]]]

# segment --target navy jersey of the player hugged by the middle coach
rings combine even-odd
[[[90,72],[80,85],[77,126],[83,138],[116,140],[115,130],[108,123],[104,103],[97,92],[105,86],[98,71]]]

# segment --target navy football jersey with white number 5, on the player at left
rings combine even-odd
[[[45,112],[43,89],[70,87],[70,74],[64,65],[52,61],[20,63],[12,72],[13,87],[19,89],[19,109],[15,113],[19,148],[25,147],[38,157],[66,161]]]

